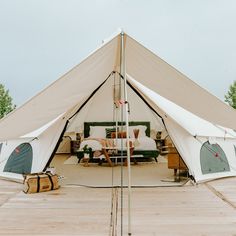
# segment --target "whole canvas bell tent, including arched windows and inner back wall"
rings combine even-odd
[[[165,130],[197,182],[236,175],[236,111],[118,32],[0,121],[0,176],[45,170],[65,132],[114,120],[114,86],[124,77],[129,120]]]

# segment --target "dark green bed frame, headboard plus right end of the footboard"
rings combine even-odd
[[[90,126],[115,126],[115,122],[105,121],[105,122],[84,122],[84,137],[89,137]],[[125,125],[125,122],[118,122],[118,126]],[[149,121],[130,121],[129,126],[144,125],[147,127],[146,135],[150,137],[150,122]],[[157,161],[159,151],[156,150],[134,150],[134,155],[142,155],[143,158],[154,158]]]

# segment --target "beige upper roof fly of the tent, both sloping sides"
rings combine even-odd
[[[112,71],[119,71],[119,37],[118,33],[79,65],[2,119],[0,140],[18,138],[82,104]],[[125,49],[126,72],[136,81],[205,120],[236,129],[236,112],[231,107],[127,34]]]

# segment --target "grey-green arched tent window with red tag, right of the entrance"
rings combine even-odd
[[[230,171],[228,159],[218,144],[205,142],[200,150],[202,174]]]

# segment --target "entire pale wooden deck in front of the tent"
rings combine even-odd
[[[62,187],[24,194],[0,180],[0,235],[111,235],[111,189]],[[124,190],[123,235],[127,235]],[[117,227],[120,234],[120,189]],[[132,235],[236,235],[236,178],[184,187],[134,188]]]

